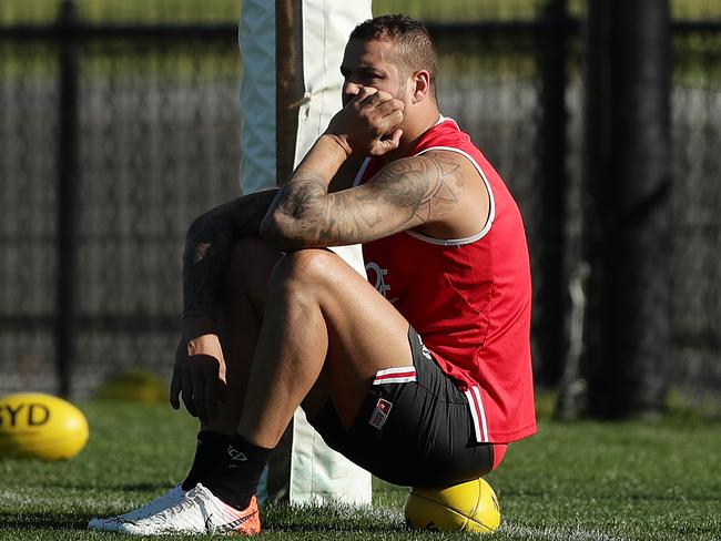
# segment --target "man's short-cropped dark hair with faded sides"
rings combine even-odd
[[[419,21],[402,13],[380,16],[358,24],[349,39],[389,41],[396,45],[397,62],[407,72],[427,70],[431,94],[436,95],[436,49],[428,30]]]

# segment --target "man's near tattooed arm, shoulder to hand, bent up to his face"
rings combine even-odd
[[[280,249],[366,243],[415,228],[461,238],[480,231],[488,193],[470,162],[447,151],[390,161],[362,186],[328,193],[349,155],[384,155],[398,147],[404,104],[363,88],[281,188],[261,225]]]

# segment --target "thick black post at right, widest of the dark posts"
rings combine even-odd
[[[590,0],[585,347],[590,412],[657,414],[669,357],[670,9]]]

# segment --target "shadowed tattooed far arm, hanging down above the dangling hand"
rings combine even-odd
[[[275,194],[245,195],[203,214],[190,226],[183,253],[183,317],[215,317],[233,244],[257,236]]]

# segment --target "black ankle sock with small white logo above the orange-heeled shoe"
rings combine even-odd
[[[229,506],[243,510],[255,494],[272,452],[273,449],[258,447],[236,435],[201,482]]]

